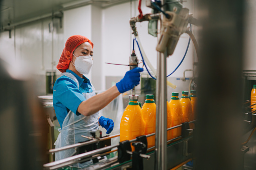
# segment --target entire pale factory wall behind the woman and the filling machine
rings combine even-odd
[[[108,65],[109,63],[128,64],[132,51],[133,35],[129,25],[129,19],[138,15],[138,2],[119,4],[113,7],[100,8],[88,5],[63,12],[62,27],[59,19],[44,19],[31,24],[15,28],[11,32],[0,33],[0,54],[15,61],[25,60],[31,66],[38,94],[45,94],[45,74],[47,70],[55,70],[57,77],[60,72],[56,69],[59,57],[63,50],[65,41],[71,35],[84,35],[95,44],[94,67],[87,76],[93,82],[96,90],[105,90],[107,81],[114,85],[129,70],[128,66]],[[192,12],[192,2],[184,3],[185,7]],[[151,9],[142,1],[143,14],[150,13]],[[49,25],[50,24],[50,25]],[[137,23],[137,30],[144,51],[156,68],[156,43],[157,38],[148,35],[148,22]],[[50,28],[50,29],[49,29]],[[178,66],[187,48],[189,37],[183,34],[173,54],[167,58],[167,74],[173,72]],[[137,46],[135,52],[141,59]],[[192,69],[193,44],[191,42],[187,56],[180,68],[171,75],[168,80],[179,84],[180,90],[188,90],[186,82],[177,80],[183,77],[186,69]],[[106,80],[107,77],[107,80]],[[186,77],[192,77],[191,72]],[[186,89],[184,87],[186,87]],[[169,88],[168,88],[169,89]],[[176,89],[176,90],[178,90]],[[170,89],[173,92],[172,89]]]

